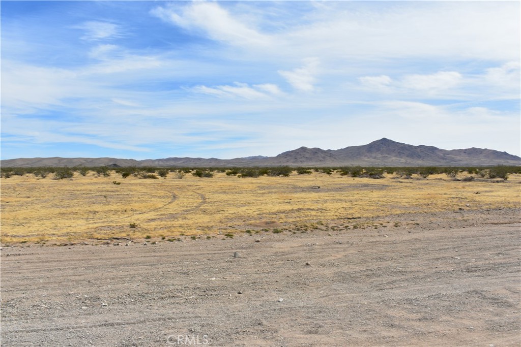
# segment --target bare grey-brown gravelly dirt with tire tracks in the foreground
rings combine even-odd
[[[4,247],[2,345],[518,346],[519,215],[461,210],[331,233]]]

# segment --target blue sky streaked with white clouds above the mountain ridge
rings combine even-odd
[[[521,154],[519,2],[0,6],[2,159]]]

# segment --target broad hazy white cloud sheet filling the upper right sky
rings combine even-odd
[[[349,3],[348,3],[349,4]],[[518,2],[330,2],[278,52],[331,59],[519,59]]]

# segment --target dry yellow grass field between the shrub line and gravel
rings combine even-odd
[[[86,176],[2,179],[2,242],[77,241],[215,235],[259,228],[308,229],[357,217],[483,208],[519,208],[519,175],[508,181],[453,182],[352,178],[334,173],[290,177],[122,179]],[[465,175],[463,175],[465,176]],[[120,185],[113,181],[121,182]],[[320,188],[316,188],[320,186]],[[476,194],[478,193],[479,194]],[[137,227],[130,227],[131,223]]]

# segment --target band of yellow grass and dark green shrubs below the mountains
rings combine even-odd
[[[129,181],[122,181],[128,182],[125,188],[116,189],[121,182],[103,174],[96,175],[96,169],[99,168],[83,168],[82,166],[75,168],[0,168],[2,177],[6,177],[6,175],[10,177],[4,181],[2,186],[2,219],[3,223],[6,223],[5,225],[10,225],[8,230],[3,230],[3,240],[9,240],[10,237],[13,237],[12,235],[27,233],[27,230],[49,230],[50,232],[51,228],[54,233],[59,232],[60,235],[66,235],[67,241],[69,241],[68,238],[90,238],[89,233],[93,234],[94,229],[103,230],[102,237],[107,237],[109,234],[144,238],[146,234],[151,234],[151,230],[158,230],[162,233],[171,230],[172,235],[177,237],[178,230],[193,230],[194,228],[202,230],[201,233],[206,234],[216,232],[216,228],[219,227],[216,226],[216,216],[219,216],[218,220],[230,221],[226,222],[228,230],[244,230],[245,225],[252,225],[256,228],[247,229],[243,232],[245,234],[241,233],[242,235],[262,233],[261,230],[270,233],[274,230],[275,233],[278,233],[277,229],[286,231],[287,229],[282,228],[279,223],[284,223],[285,226],[288,225],[291,228],[290,230],[297,232],[317,233],[320,230],[340,231],[364,227],[372,229],[375,226],[366,226],[363,223],[355,224],[351,221],[337,227],[336,221],[339,216],[345,214],[354,219],[355,217],[392,215],[411,210],[422,211],[426,208],[429,211],[457,211],[460,207],[467,210],[478,208],[485,203],[487,207],[491,208],[513,207],[519,205],[519,191],[516,189],[518,186],[515,183],[520,181],[519,172],[521,171],[517,166],[472,166],[469,168],[355,166],[311,170],[297,168],[293,171],[295,174],[291,178],[279,179],[276,175],[281,173],[281,169],[282,173],[289,173],[292,169],[169,168],[169,172],[173,172],[170,174],[174,177],[178,173],[185,174],[184,171],[195,173],[199,170],[201,173],[208,172],[214,175],[216,179],[206,183],[206,180],[199,181],[196,175],[188,175],[187,184],[179,184],[173,179],[162,180],[160,184],[156,184],[140,182],[139,179],[134,179],[130,175],[135,175],[136,178],[141,178],[143,174],[158,177],[157,172],[160,170],[158,168],[108,167],[107,169],[113,176],[114,172],[121,174],[121,177],[124,174],[129,175],[127,176]],[[166,168],[162,169],[166,170]],[[298,175],[297,173],[302,170],[309,170],[312,173]],[[81,171],[90,174],[82,176]],[[457,177],[447,175],[447,173],[456,172]],[[54,173],[50,176],[55,176],[56,179],[74,178],[74,181],[56,186],[49,179],[40,179],[41,173],[43,173],[43,177]],[[244,175],[245,179],[238,180],[231,177],[234,176],[234,173],[239,177]],[[356,177],[351,178],[352,173]],[[428,179],[420,180],[422,175],[428,175]],[[259,179],[247,179],[248,176],[259,177]],[[329,176],[332,177],[329,178]],[[368,179],[380,176],[383,178],[378,183],[373,183],[371,179]],[[395,177],[399,178],[393,179]],[[404,182],[403,177],[412,179]],[[451,178],[458,178],[461,182]],[[506,182],[506,184],[495,184],[498,182]],[[463,185],[463,183],[465,184]],[[104,190],[100,190],[100,187],[103,187]],[[321,188],[314,190],[308,189],[309,187]],[[363,189],[363,194],[360,194],[359,189]],[[175,195],[172,197],[174,193]],[[326,199],[324,199],[325,195],[327,195]],[[64,197],[68,198],[64,199]],[[470,207],[465,207],[467,203]],[[319,208],[315,208],[316,206]],[[346,208],[348,206],[349,209]],[[36,216],[24,220],[22,226],[20,222],[16,222],[19,221],[19,214],[17,215],[15,212],[23,209],[36,211]],[[130,223],[132,220],[128,220],[133,215],[139,216],[139,221],[135,221],[139,222],[139,227],[137,223]],[[189,216],[189,220],[177,218],[179,215]],[[324,224],[317,222],[320,220],[324,221]],[[276,224],[269,224],[270,221],[274,221]],[[121,227],[121,223],[126,227]],[[71,225],[77,226],[72,232],[70,231]],[[392,223],[389,226],[392,227]],[[101,232],[99,233],[102,235]],[[154,234],[151,235],[154,236]],[[172,238],[169,234],[165,235],[168,235],[165,239]],[[190,232],[186,237],[189,238],[192,235]],[[48,238],[48,234],[36,235],[34,239],[41,237]],[[228,238],[227,236],[221,237]]]

